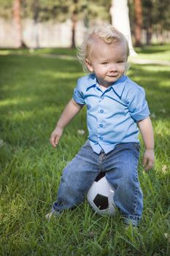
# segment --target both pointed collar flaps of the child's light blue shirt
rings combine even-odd
[[[126,80],[127,80],[127,76],[123,75],[120,79],[118,79],[115,83],[113,83],[112,86],[110,86],[119,98],[122,97]],[[96,85],[97,85],[96,76],[94,74],[90,74],[88,76],[88,88],[86,89],[86,91],[90,90],[93,87],[96,87]]]

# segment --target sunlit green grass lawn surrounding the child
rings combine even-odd
[[[125,230],[119,214],[97,216],[87,201],[47,222],[63,167],[88,132],[83,109],[66,127],[58,149],[50,146],[50,133],[83,73],[73,59],[41,53],[0,56],[0,255],[169,255],[170,67],[131,64],[128,72],[146,90],[155,130],[155,169],[144,173],[142,154],[139,165],[144,192],[139,229]],[[85,135],[77,135],[78,129]]]

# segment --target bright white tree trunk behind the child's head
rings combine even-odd
[[[134,51],[131,41],[131,29],[128,17],[128,0],[112,0],[110,12],[112,15],[113,26],[124,34],[128,40],[130,55],[135,56],[136,52]]]

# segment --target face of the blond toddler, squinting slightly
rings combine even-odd
[[[108,45],[101,39],[96,39],[86,65],[90,72],[95,73],[99,85],[108,87],[124,75],[126,61],[124,42],[112,42]]]

